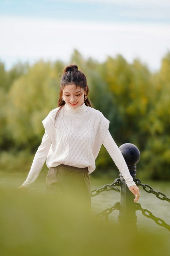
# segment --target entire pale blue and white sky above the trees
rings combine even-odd
[[[99,62],[121,54],[157,71],[170,51],[170,0],[0,0],[0,61]]]

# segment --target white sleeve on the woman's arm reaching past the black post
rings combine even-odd
[[[104,138],[103,146],[106,148],[109,155],[111,156],[119,171],[121,172],[123,178],[125,179],[126,185],[128,187],[135,185],[133,177],[131,176],[128,166],[124,160],[124,157],[109,131]]]

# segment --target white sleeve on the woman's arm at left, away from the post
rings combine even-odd
[[[52,142],[48,137],[47,131],[45,131],[42,142],[38,147],[37,152],[35,153],[35,157],[27,179],[22,184],[23,186],[29,188],[34,184],[45,163],[51,144]]]

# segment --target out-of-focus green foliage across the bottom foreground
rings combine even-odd
[[[120,227],[55,194],[0,188],[0,255],[170,255],[167,235]]]

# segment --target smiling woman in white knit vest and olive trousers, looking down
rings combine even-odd
[[[139,188],[130,175],[121,151],[108,131],[109,120],[92,107],[89,88],[77,65],[63,70],[58,107],[42,121],[45,133],[35,154],[26,181],[19,189],[28,189],[38,177],[47,158],[49,168],[46,192],[79,198],[91,205],[89,174],[103,144],[122,173],[126,185],[138,201]]]

